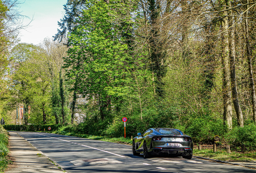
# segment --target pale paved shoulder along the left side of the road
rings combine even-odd
[[[43,153],[15,132],[9,132],[9,150],[13,167],[5,173],[63,173]]]

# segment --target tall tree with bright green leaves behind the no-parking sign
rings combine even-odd
[[[76,76],[78,94],[98,100],[102,119],[111,106],[118,107],[130,93],[133,59],[115,21],[118,12],[124,10],[121,5],[119,1],[85,2],[88,9],[69,34],[71,47],[64,58],[70,82],[74,83]]]

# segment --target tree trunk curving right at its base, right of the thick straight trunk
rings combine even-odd
[[[231,26],[231,31],[229,32],[229,61],[230,61],[230,73],[231,73],[231,89],[232,89],[232,99],[235,108],[235,113],[237,116],[237,125],[244,127],[243,113],[239,105],[237,87],[236,87],[236,76],[235,76],[235,26],[233,25],[233,17],[229,17],[229,23]]]

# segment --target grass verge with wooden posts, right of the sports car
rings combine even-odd
[[[219,149],[215,153],[213,149],[194,149],[193,155],[199,157],[206,157],[210,159],[217,159],[221,161],[240,161],[240,162],[256,162],[256,152],[247,152],[247,153],[240,153],[240,152],[231,152],[227,153],[225,149]]]

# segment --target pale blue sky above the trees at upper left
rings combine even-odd
[[[25,1],[25,2],[24,2]],[[26,30],[20,31],[21,42],[38,44],[44,38],[52,38],[57,33],[58,21],[64,16],[63,5],[67,0],[20,0],[22,15],[33,18]],[[31,19],[25,18],[23,24]]]

